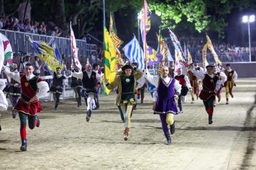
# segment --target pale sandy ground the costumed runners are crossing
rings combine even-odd
[[[215,107],[212,125],[202,101],[190,104],[189,95],[184,113],[175,116],[172,146],[164,145],[148,93],[132,116],[129,141],[114,93],[100,97],[90,123],[85,105],[77,108],[75,100],[62,101],[59,111],[42,103],[40,127],[27,128],[26,152],[19,150],[19,118],[2,112],[0,169],[256,169],[255,89],[256,79],[239,79],[230,104],[222,100]]]

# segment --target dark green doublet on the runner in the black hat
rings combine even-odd
[[[134,75],[130,75],[129,77],[120,75],[120,80],[122,84],[120,103],[134,102]]]

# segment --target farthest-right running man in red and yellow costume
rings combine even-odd
[[[228,104],[228,93],[232,98],[234,97],[232,89],[234,86],[236,86],[235,81],[237,80],[237,73],[236,71],[231,69],[230,64],[226,65],[226,69],[224,72],[227,75],[227,81],[224,83],[224,86],[226,88],[226,104]]]

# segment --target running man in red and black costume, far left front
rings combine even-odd
[[[41,104],[38,97],[42,97],[49,91],[47,82],[43,81],[40,77],[33,74],[34,67],[27,63],[25,66],[25,73],[10,72],[7,66],[3,66],[4,73],[15,81],[20,83],[21,94],[17,105],[14,107],[16,112],[19,112],[20,118],[20,137],[21,146],[20,150],[27,150],[26,140],[26,120],[28,118],[28,126],[30,129],[39,127],[40,121],[38,119],[38,112],[42,112]]]

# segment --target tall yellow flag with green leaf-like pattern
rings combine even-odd
[[[105,74],[103,80],[106,78],[108,82],[114,81],[116,76],[116,50],[115,45],[109,32],[104,26],[104,56],[105,56]],[[102,91],[104,95],[108,95],[111,90],[106,88],[106,84],[102,81]]]

